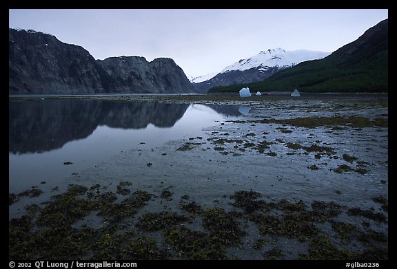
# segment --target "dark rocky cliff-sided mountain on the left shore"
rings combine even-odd
[[[95,60],[79,45],[51,34],[9,29],[9,94],[192,92],[192,83],[170,58],[139,56]]]

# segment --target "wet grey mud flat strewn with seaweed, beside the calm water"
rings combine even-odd
[[[10,259],[388,259],[387,94],[125,100],[243,114],[10,193]]]

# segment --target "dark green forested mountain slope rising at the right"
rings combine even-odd
[[[210,92],[388,92],[388,19],[329,56],[305,61],[257,83],[214,87]]]

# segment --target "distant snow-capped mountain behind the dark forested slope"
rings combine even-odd
[[[287,52],[282,48],[265,50],[226,67],[207,80],[194,78],[191,81],[194,83],[194,88],[199,92],[207,92],[208,89],[216,86],[261,81],[282,69],[292,67],[303,61],[324,58],[329,54],[329,52],[313,52],[310,50]]]

